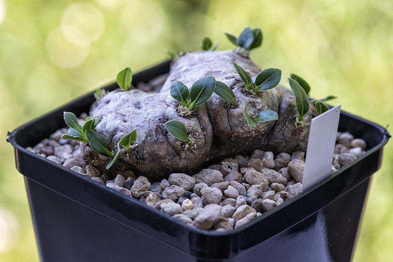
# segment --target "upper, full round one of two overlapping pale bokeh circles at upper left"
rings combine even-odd
[[[79,30],[70,30],[79,28]],[[97,40],[105,29],[105,21],[101,12],[87,2],[75,2],[69,5],[62,16],[61,27],[65,38],[76,45],[85,45]],[[85,36],[83,36],[84,33]]]

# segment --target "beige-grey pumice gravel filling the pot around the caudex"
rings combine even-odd
[[[79,123],[88,116],[83,113]],[[254,150],[249,156],[225,158],[197,174],[170,174],[151,183],[125,170],[110,177],[81,155],[80,142],[62,139],[68,128],[57,130],[33,148],[35,154],[63,165],[98,183],[202,230],[228,231],[245,225],[302,191],[305,152],[292,154]],[[365,154],[363,139],[337,132],[333,174]]]

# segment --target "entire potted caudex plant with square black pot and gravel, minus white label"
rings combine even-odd
[[[310,120],[332,97],[312,101],[301,77],[288,78],[290,91],[277,86],[280,69],[260,70],[249,58],[259,28],[226,36],[236,50],[214,51],[206,37],[201,52],[134,76],[125,68],[9,134],[42,261],[351,260],[388,132],[342,112],[339,131],[368,151],[299,191]],[[132,87],[168,72],[158,93]],[[84,160],[26,149],[62,128],[57,150],[72,145]]]

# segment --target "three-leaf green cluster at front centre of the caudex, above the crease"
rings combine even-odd
[[[223,82],[216,81],[213,76],[201,78],[193,83],[190,89],[181,81],[170,84],[170,95],[180,102],[180,105],[193,110],[195,105],[206,102],[215,92],[226,102],[235,105],[235,94]]]

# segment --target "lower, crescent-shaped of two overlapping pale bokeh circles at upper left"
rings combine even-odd
[[[90,46],[77,46],[67,41],[61,27],[52,30],[47,38],[46,48],[49,59],[58,67],[73,68],[86,59]]]

